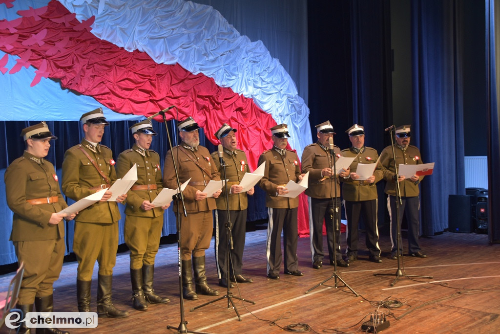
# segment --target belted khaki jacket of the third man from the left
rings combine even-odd
[[[116,159],[116,177],[122,178],[134,164],[137,165],[137,181],[134,185],[155,184],[156,189],[129,190],[126,198],[125,214],[139,217],[157,217],[162,215],[163,210],[161,207],[155,207],[147,211],[140,207],[143,201],[152,202],[163,188],[159,154],[153,150],[147,150],[147,154],[145,154],[143,150],[134,144],[131,149],[123,151],[118,155]]]

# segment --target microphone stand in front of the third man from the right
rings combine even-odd
[[[333,147],[333,136],[331,137],[331,144],[332,144],[332,147]],[[333,198],[331,198],[331,203],[333,205],[333,209],[329,209],[328,210],[329,213],[330,213],[331,221],[333,223],[333,228],[332,228],[332,236],[333,236],[333,259],[332,259],[332,261],[333,261],[333,273],[331,274],[330,277],[328,277],[325,280],[317,283],[316,285],[314,285],[313,287],[311,287],[310,289],[308,289],[307,291],[305,291],[305,293],[308,293],[309,291],[315,289],[319,285],[324,285],[324,286],[334,287],[334,288],[346,286],[357,297],[358,294],[349,285],[347,285],[347,283],[345,283],[345,281],[339,275],[337,275],[337,247],[339,247],[337,245],[339,245],[339,244],[337,244],[336,233],[340,233],[340,229],[339,229],[340,225],[338,224],[339,211],[338,211],[338,202],[337,202],[337,198],[338,198],[337,197],[337,175],[336,175],[335,155],[333,154],[333,149],[330,149],[330,159],[333,162],[333,182],[330,181],[330,194],[332,193],[331,192],[331,187],[332,187],[332,184],[333,184],[334,196],[335,196],[335,200],[333,200]],[[332,278],[335,279],[334,280],[334,282],[335,282],[334,286],[330,286],[330,285],[324,284],[325,282],[329,281]],[[338,286],[338,281],[342,282],[343,285]]]

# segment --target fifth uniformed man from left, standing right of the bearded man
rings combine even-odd
[[[243,151],[238,150],[237,140],[235,135],[236,129],[231,128],[227,124],[223,124],[217,132],[215,137],[220,140],[222,144],[222,158],[225,164],[224,168],[220,165],[218,151],[212,153],[212,161],[215,163],[216,168],[220,172],[223,179],[227,181],[227,194],[225,187],[222,187],[222,196],[219,196],[215,202],[217,203],[217,210],[215,211],[215,258],[217,259],[217,273],[219,278],[219,285],[223,287],[232,287],[230,280],[238,283],[250,283],[253,281],[251,278],[245,278],[241,275],[241,267],[243,265],[243,248],[245,245],[245,231],[246,231],[246,208],[248,200],[246,194],[253,195],[253,187],[245,193],[239,182],[246,172],[250,172],[248,161]],[[226,199],[229,203],[229,211],[227,211]],[[229,214],[229,216],[228,216]],[[233,249],[230,251],[231,259],[227,263],[228,240],[226,225],[228,218],[231,222],[231,235]],[[227,275],[229,270],[229,276]]]

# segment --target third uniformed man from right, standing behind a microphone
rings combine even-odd
[[[309,196],[309,238],[312,267],[319,269],[323,263],[323,219],[326,226],[330,264],[333,265],[333,247],[335,247],[336,265],[348,267],[349,264],[342,259],[340,253],[340,230],[335,230],[335,246],[333,246],[334,206],[338,208],[336,221],[340,223],[341,204],[340,181],[338,177],[333,177],[331,169],[333,168],[333,161],[331,159],[338,160],[340,149],[334,146],[332,156],[328,140],[333,138],[335,133],[329,121],[316,125],[316,130],[317,142],[307,145],[302,153],[302,173],[309,172],[309,184],[305,189],[305,194]],[[346,177],[348,175],[349,171],[342,169],[338,176]],[[333,187],[336,187],[336,189]]]

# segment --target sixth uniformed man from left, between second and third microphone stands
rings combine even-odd
[[[264,151],[258,158],[258,165],[265,162],[264,176],[259,180],[259,186],[266,192],[269,223],[267,225],[267,277],[279,279],[281,266],[281,231],[283,230],[283,262],[284,273],[302,276],[298,270],[297,258],[297,214],[298,197],[290,198],[279,195],[288,193],[285,187],[289,180],[298,182],[304,174],[300,173],[298,156],[294,151],[287,150],[288,127],[279,124],[271,129],[272,149]]]

